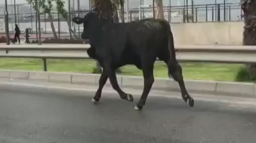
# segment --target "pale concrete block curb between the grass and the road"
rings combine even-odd
[[[81,85],[99,85],[100,74],[0,70],[0,77],[12,80],[19,78]],[[120,87],[143,89],[144,86],[143,77],[117,75],[117,80]],[[109,79],[106,86],[111,86]],[[185,80],[185,86],[189,93],[256,97],[256,84],[254,83]],[[152,89],[180,92],[178,82],[168,78],[155,78]]]

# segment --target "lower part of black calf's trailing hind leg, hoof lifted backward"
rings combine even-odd
[[[185,83],[183,80],[183,76],[182,76],[182,67],[179,65],[178,61],[170,60],[168,63],[168,71],[169,71],[169,75],[171,75],[171,77],[173,77],[173,79],[179,83],[182,99],[186,103],[188,103],[190,107],[193,107],[194,99],[190,97],[189,93],[187,92],[187,89],[185,87]]]

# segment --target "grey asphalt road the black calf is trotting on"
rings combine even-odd
[[[67,95],[68,94],[68,95]],[[70,96],[72,95],[72,96]],[[255,106],[149,97],[142,111],[103,94],[0,91],[0,143],[255,143]]]

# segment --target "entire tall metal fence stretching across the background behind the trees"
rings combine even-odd
[[[225,2],[225,1],[224,1]],[[69,3],[70,12],[69,15],[71,19],[74,16],[83,17],[89,9],[81,9],[78,5],[74,3]],[[0,9],[4,9],[4,5],[0,5]],[[3,10],[2,9],[2,10]],[[154,13],[156,15],[156,6],[154,8]],[[1,11],[1,10],[0,10]],[[33,7],[27,3],[25,4],[16,4],[8,6],[9,11],[9,31],[10,34],[14,33],[14,24],[17,23],[22,32],[26,28],[29,28],[30,34],[36,34],[37,29],[37,19],[36,12],[33,10]],[[119,22],[134,21],[138,20],[141,14],[141,19],[153,17],[153,6],[149,5],[144,7],[141,10],[139,8],[129,9],[129,19],[126,19],[126,16],[121,18],[122,15],[126,15],[126,10],[121,11],[118,9]],[[80,32],[83,30],[83,27],[74,24],[72,20],[66,21],[62,15],[58,12],[51,13],[53,17],[53,26],[59,38],[61,37],[73,37],[69,32],[69,27],[67,22],[71,23],[71,29],[73,29],[76,35],[80,36]],[[220,22],[220,21],[240,21],[242,18],[242,10],[240,8],[240,3],[216,3],[216,4],[206,4],[206,5],[194,5],[193,2],[191,5],[183,6],[168,6],[164,7],[164,18],[170,23],[182,23],[182,22]],[[3,19],[4,15],[0,14],[0,19]],[[52,37],[52,26],[50,25],[50,20],[48,14],[40,14],[40,27],[42,38]],[[37,34],[36,34],[37,38]]]

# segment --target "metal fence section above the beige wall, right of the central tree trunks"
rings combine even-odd
[[[142,8],[142,19],[153,17],[153,7]],[[156,14],[155,7],[155,14]],[[130,9],[130,19],[139,17],[139,8]],[[170,23],[240,21],[243,12],[240,3],[216,3],[206,5],[183,5],[164,7],[164,18]]]

